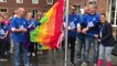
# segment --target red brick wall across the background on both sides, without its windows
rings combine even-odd
[[[55,2],[56,0],[54,0]],[[82,3],[82,8],[88,4],[88,0],[70,0],[70,6]],[[52,4],[46,4],[46,0],[39,0],[39,4],[32,4],[31,0],[23,0],[23,3],[17,3],[15,0],[7,0],[7,2],[1,3],[0,8],[7,8],[8,12],[11,14],[14,9],[19,7],[24,7],[26,11],[39,10],[39,11],[47,11]],[[97,0],[97,11],[106,12],[107,0]]]

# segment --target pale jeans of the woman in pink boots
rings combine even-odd
[[[111,55],[113,48],[114,48],[113,46],[104,46],[100,44],[98,59],[104,59],[104,56],[105,56],[107,62],[111,62],[110,55]]]

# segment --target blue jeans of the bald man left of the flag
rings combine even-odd
[[[24,43],[14,43],[14,50],[15,50],[15,66],[21,65],[21,56],[23,57],[24,65],[30,65],[29,57],[28,57],[28,51],[24,46]]]

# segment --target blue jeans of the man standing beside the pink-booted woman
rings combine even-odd
[[[98,59],[98,41],[95,37],[87,37],[85,38],[85,56],[84,62],[89,63],[89,50],[93,43],[94,46],[94,64],[97,64]]]

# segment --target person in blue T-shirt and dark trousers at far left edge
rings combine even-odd
[[[0,16],[0,61],[7,62],[4,53],[7,52],[7,46],[9,44],[9,26],[4,24],[3,18]]]

